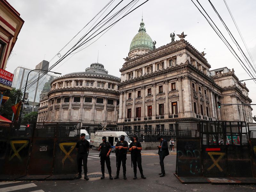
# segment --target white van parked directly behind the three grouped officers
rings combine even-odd
[[[120,136],[124,135],[124,140],[128,142],[128,146],[132,142],[126,132],[123,131],[96,131],[95,133],[91,133],[91,142],[90,146],[94,146],[99,148],[100,143],[102,143],[102,137],[106,136],[107,141],[111,144],[111,146],[115,147],[116,142],[120,141]]]

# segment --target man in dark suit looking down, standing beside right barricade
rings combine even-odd
[[[164,171],[164,157],[169,155],[168,151],[168,142],[167,140],[163,139],[163,136],[160,135],[157,137],[157,140],[160,141],[160,145],[158,147],[158,155],[160,158],[160,166],[161,166],[161,173],[159,173],[160,177],[165,176],[165,171]]]

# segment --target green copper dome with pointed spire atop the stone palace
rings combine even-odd
[[[130,52],[135,49],[146,49],[149,51],[153,50],[153,41],[151,37],[146,33],[143,19],[140,23],[139,33],[133,37],[132,43],[130,45]]]

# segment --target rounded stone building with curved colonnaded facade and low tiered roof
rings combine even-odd
[[[83,126],[107,121],[116,125],[120,78],[108,75],[100,63],[85,72],[69,73],[51,82],[51,91],[40,101],[38,122],[82,122]]]

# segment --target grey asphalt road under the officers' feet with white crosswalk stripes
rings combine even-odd
[[[138,179],[133,180],[133,168],[131,168],[131,156],[127,156],[126,169],[127,180],[123,180],[122,166],[120,170],[119,179],[109,180],[108,175],[105,174],[105,179],[100,180],[100,159],[97,158],[98,152],[91,150],[88,157],[88,175],[94,174],[95,177],[90,177],[89,181],[82,179],[69,181],[23,181],[17,183],[0,182],[0,192],[14,191],[16,192],[113,192],[113,191],[239,191],[252,192],[256,191],[255,185],[212,185],[212,184],[181,184],[180,181],[173,175],[175,172],[176,153],[165,157],[165,172],[166,176],[160,178],[158,173],[160,171],[159,156],[156,150],[143,151],[142,168],[143,173],[147,179],[141,179],[138,170]],[[112,176],[116,174],[116,157],[111,155]],[[105,172],[107,168],[105,166]],[[25,186],[24,186],[25,185]],[[17,187],[18,186],[18,187]],[[23,186],[23,187],[22,187]]]

